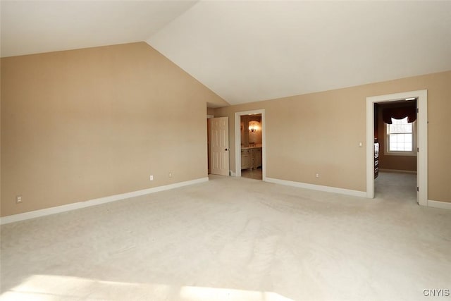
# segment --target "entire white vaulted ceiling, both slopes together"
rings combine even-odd
[[[255,102],[451,70],[451,1],[1,1],[1,56],[138,41]]]

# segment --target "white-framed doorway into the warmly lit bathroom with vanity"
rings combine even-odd
[[[265,111],[235,113],[235,176],[266,180]]]

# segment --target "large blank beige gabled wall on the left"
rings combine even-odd
[[[4,58],[1,88],[1,216],[204,178],[227,104],[144,42]]]

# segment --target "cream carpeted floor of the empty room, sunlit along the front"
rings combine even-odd
[[[365,199],[211,176],[6,224],[0,299],[424,300],[450,289],[451,211],[395,178]]]

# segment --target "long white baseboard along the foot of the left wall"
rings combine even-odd
[[[57,206],[57,207],[51,207],[51,208],[46,208],[46,209],[25,212],[25,213],[21,213],[21,214],[4,216],[4,217],[0,218],[0,225],[4,225],[6,223],[13,223],[15,221],[24,221],[25,219],[35,219],[40,216],[57,214],[57,213],[64,212],[64,211],[91,207],[91,206],[105,204],[105,203],[109,203],[109,202],[115,202],[120,199],[128,199],[130,197],[138,197],[140,195],[149,195],[150,193],[154,193],[154,192],[171,190],[174,188],[180,188],[180,187],[187,186],[187,185],[208,182],[208,180],[209,180],[208,177],[198,178],[195,180],[187,180],[185,182],[179,182],[179,183],[163,185],[163,186],[154,187],[154,188],[147,188],[147,189],[143,189],[143,190],[126,192],[126,193],[122,193],[121,195],[111,195],[109,197],[99,197],[98,199],[89,199],[89,200],[83,201],[83,202],[76,202],[76,203]]]

